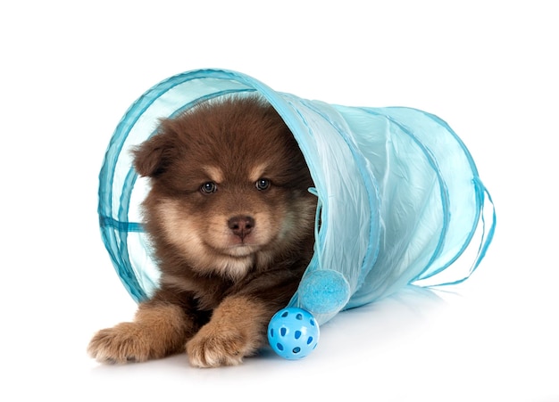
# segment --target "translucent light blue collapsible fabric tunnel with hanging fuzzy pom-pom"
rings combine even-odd
[[[313,176],[309,191],[318,196],[313,258],[289,306],[323,324],[408,284],[462,282],[478,267],[495,210],[470,153],[443,120],[402,107],[309,101],[238,72],[193,70],[132,104],[100,173],[104,244],[135,300],[149,297],[159,274],[140,224],[149,184],[132,168],[130,149],[154,135],[159,119],[205,100],[254,93],[295,135]]]

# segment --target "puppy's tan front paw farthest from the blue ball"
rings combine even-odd
[[[137,323],[121,323],[96,333],[88,353],[101,363],[143,362],[150,357],[146,334]]]

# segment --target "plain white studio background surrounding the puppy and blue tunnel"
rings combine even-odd
[[[0,399],[559,401],[554,3],[4,2]],[[135,311],[97,224],[104,151],[147,88],[206,67],[445,119],[496,203],[480,268],[444,303],[338,315],[297,362],[97,365],[89,338]]]

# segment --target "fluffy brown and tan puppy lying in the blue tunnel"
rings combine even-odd
[[[134,150],[150,180],[144,226],[161,271],[134,320],[96,333],[100,362],[186,351],[191,365],[238,365],[266,340],[313,254],[316,197],[296,141],[255,96],[201,103]]]

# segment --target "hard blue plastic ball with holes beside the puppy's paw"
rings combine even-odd
[[[303,308],[283,308],[271,317],[268,341],[280,357],[306,357],[318,344],[320,330],[313,315]]]

